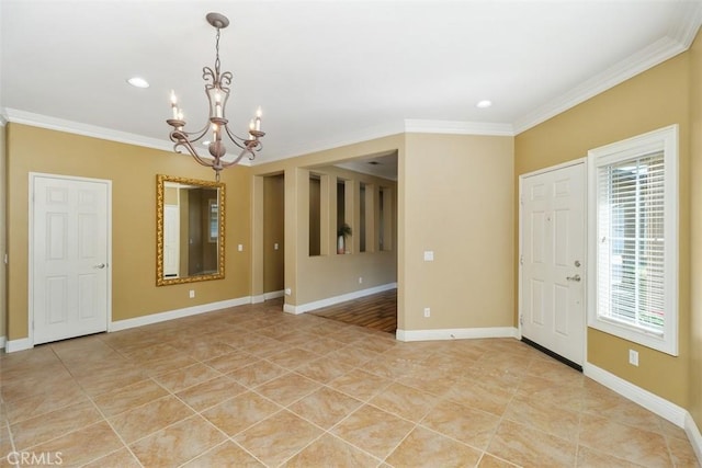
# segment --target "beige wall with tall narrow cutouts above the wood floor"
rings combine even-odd
[[[310,258],[309,249],[309,171],[324,172],[329,178],[336,178],[343,173],[344,179],[354,181],[380,181],[370,175],[352,173],[329,168],[330,163],[353,158],[387,153],[389,151],[403,151],[404,139],[401,135],[378,138],[356,145],[349,145],[330,150],[319,151],[297,158],[274,161],[267,164],[254,165],[254,261],[253,261],[253,294],[263,293],[263,272],[257,270],[257,256],[262,255],[263,244],[257,244],[262,238],[262,209],[263,204],[259,197],[263,194],[264,175],[284,172],[285,174],[285,287],[292,294],[285,297],[285,304],[302,306],[329,297],[340,296],[372,288],[397,281],[397,261],[399,250],[383,252],[353,253],[338,255],[336,253],[336,180],[328,184],[333,190],[333,202],[322,214],[322,222],[327,226],[327,235],[321,239],[322,249],[329,254]],[[373,182],[372,182],[373,183]],[[380,182],[376,182],[380,183]],[[395,185],[392,181],[385,181],[385,185]],[[333,208],[333,216],[331,216]],[[332,226],[333,225],[333,226]],[[355,228],[355,226],[352,226]],[[260,233],[259,233],[260,232]],[[353,239],[355,238],[355,240]],[[358,236],[352,236],[352,241],[358,242]],[[358,248],[354,249],[358,252]],[[359,284],[359,277],[363,283]]]

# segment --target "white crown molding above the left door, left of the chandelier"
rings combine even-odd
[[[80,122],[66,121],[64,118],[49,117],[47,115],[18,111],[15,109],[5,109],[5,115],[8,122],[10,123],[31,125],[34,127],[47,128],[49,130],[65,132],[68,134],[124,142],[127,145],[160,149],[163,151],[173,151],[172,144],[168,141],[156,138],[148,138],[127,132],[113,130],[95,125],[82,124]]]

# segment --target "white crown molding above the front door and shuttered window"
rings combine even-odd
[[[690,34],[692,34],[692,31],[697,34],[699,27],[700,23],[698,20],[697,27],[690,26],[680,34],[689,37]],[[694,38],[694,35],[692,38]],[[690,43],[691,42],[692,39],[690,39]],[[601,92],[604,92],[635,77],[636,75],[686,52],[689,46],[689,44],[684,45],[669,36],[661,37],[638,53],[610,67],[605,71],[596,75],[559,98],[556,98],[523,117],[518,118],[514,121],[514,135],[519,135],[520,133],[525,132],[548,118],[555,117],[556,115],[575,107],[597,94],[600,94]]]

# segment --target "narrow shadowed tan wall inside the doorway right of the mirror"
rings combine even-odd
[[[285,287],[284,255],[285,178],[279,174],[263,178],[263,293]]]

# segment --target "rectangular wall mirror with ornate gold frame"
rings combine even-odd
[[[156,285],[224,278],[225,185],[156,176]]]

